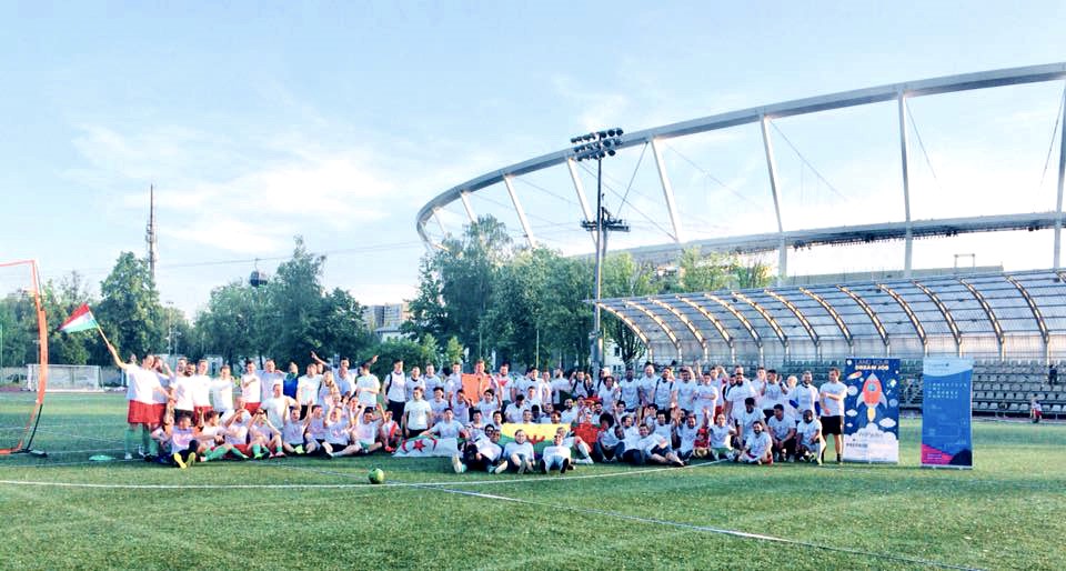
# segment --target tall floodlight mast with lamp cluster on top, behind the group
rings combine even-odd
[[[584,220],[581,227],[593,232],[596,244],[596,269],[595,269],[595,305],[593,305],[592,321],[592,370],[599,378],[603,369],[603,331],[601,328],[601,308],[600,301],[603,293],[603,258],[607,250],[607,232],[628,232],[630,227],[617,218],[614,218],[603,206],[603,159],[614,157],[616,149],[622,144],[622,129],[614,128],[606,131],[597,131],[574,137],[570,140],[574,144],[574,160],[596,161],[596,219]]]

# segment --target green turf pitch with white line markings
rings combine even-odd
[[[918,468],[919,420],[902,422],[892,467],[88,462],[121,457],[124,411],[120,394],[48,397],[34,448],[49,458],[0,458],[0,567],[1066,569],[1063,424],[976,423],[973,471]],[[366,483],[375,465],[388,485]]]

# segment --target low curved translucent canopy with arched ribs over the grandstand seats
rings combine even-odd
[[[589,301],[589,303],[595,303]],[[1066,272],[941,276],[605,299],[660,357],[1066,358]]]

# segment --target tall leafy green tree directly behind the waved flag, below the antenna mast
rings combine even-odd
[[[163,349],[163,308],[148,262],[132,252],[122,252],[111,273],[100,283],[100,293],[97,319],[120,355],[140,357]],[[102,348],[93,360],[99,364],[111,362]]]

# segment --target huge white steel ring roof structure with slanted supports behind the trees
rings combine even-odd
[[[904,240],[904,277],[911,278],[912,271],[912,241],[921,237],[934,236],[955,236],[965,232],[989,232],[1008,230],[1034,230],[1042,228],[1054,228],[1054,254],[1052,267],[1060,268],[1060,244],[1063,228],[1063,193],[1066,184],[1066,129],[1062,130],[1062,142],[1059,143],[1058,157],[1058,184],[1056,209],[1053,212],[1022,212],[1022,213],[995,213],[990,216],[977,216],[969,218],[939,218],[931,220],[912,220],[911,218],[911,192],[909,192],[909,144],[907,141],[907,100],[916,97],[927,97],[941,93],[951,93],[977,89],[989,89],[1003,86],[1015,86],[1023,83],[1038,83],[1047,81],[1057,81],[1066,79],[1066,62],[1048,63],[1042,66],[1028,66],[1022,68],[1000,69],[992,71],[980,71],[976,73],[964,73],[957,76],[946,76],[941,78],[924,79],[918,81],[908,81],[903,83],[893,83],[853,91],[843,91],[817,96],[806,99],[785,101],[764,107],[753,107],[721,113],[716,116],[703,117],[682,121],[678,123],[666,124],[626,133],[620,146],[621,149],[635,147],[651,147],[652,154],[657,168],[658,180],[662,186],[663,200],[666,211],[670,213],[672,227],[671,242],[662,244],[642,246],[628,249],[637,256],[651,259],[668,259],[677,251],[700,247],[704,251],[727,251],[736,253],[756,253],[756,252],[778,252],[778,278],[787,273],[787,249],[788,247],[811,247],[835,243],[859,243],[883,240]],[[1066,98],[1066,94],[1064,94]],[[782,206],[777,192],[777,169],[774,160],[774,150],[767,127],[772,126],[774,119],[795,117],[811,113],[829,111],[833,109],[843,109],[856,106],[866,106],[878,102],[895,101],[897,104],[898,118],[898,138],[899,138],[899,159],[903,171],[903,184],[901,188],[901,199],[904,204],[903,220],[887,220],[879,223],[858,224],[836,228],[817,228],[802,230],[785,230],[781,223]],[[1064,106],[1064,116],[1066,116],[1066,106]],[[1059,118],[1066,123],[1066,118]],[[767,188],[773,198],[774,214],[777,221],[777,231],[723,237],[705,240],[685,241],[681,224],[678,223],[677,206],[674,198],[674,191],[670,182],[666,162],[662,156],[663,141],[686,137],[698,133],[711,132],[720,129],[727,129],[744,124],[755,124],[760,127],[763,141],[764,158],[767,171]],[[462,184],[457,184],[430,200],[419,211],[415,228],[419,236],[426,247],[440,247],[440,241],[431,239],[426,231],[426,224],[431,218],[435,218],[441,226],[442,234],[447,236],[443,229],[443,223],[439,211],[456,201],[462,202],[463,210],[470,221],[476,220],[470,196],[483,189],[502,184],[511,199],[514,213],[519,219],[522,232],[530,246],[536,244],[526,213],[522,208],[519,192],[513,183],[515,178],[530,174],[540,170],[555,168],[565,164],[570,171],[576,192],[576,206],[580,207],[580,214],[584,220],[593,218],[593,211],[590,208],[589,200],[585,198],[584,188],[581,183],[577,169],[574,162],[574,151],[566,148],[542,157],[529,159],[523,162],[511,164],[502,169],[475,177]],[[594,240],[594,237],[593,237]],[[778,280],[778,284],[782,280]],[[913,290],[914,287],[908,288]],[[892,297],[886,292],[886,295]],[[895,303],[906,307],[909,303],[911,295],[902,295],[894,300]],[[915,297],[919,297],[916,295]],[[780,302],[780,300],[776,300]],[[892,300],[891,300],[892,301]],[[926,300],[927,301],[927,300]],[[756,301],[756,303],[760,303]],[[934,302],[935,304],[935,302]],[[756,305],[751,305],[757,311]],[[763,320],[764,317],[760,317]],[[868,324],[868,323],[867,323]],[[777,331],[774,331],[775,337]],[[809,331],[806,333],[809,335]]]

